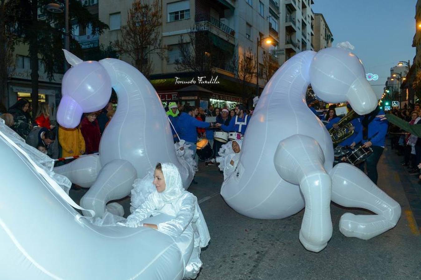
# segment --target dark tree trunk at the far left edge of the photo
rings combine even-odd
[[[14,72],[13,50],[16,44],[16,10],[15,1],[0,0],[0,104],[6,105],[7,80]]]

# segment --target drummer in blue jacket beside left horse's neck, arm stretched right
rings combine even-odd
[[[211,123],[206,123],[200,120],[197,120],[195,116],[197,115],[197,108],[194,109],[191,106],[184,106],[184,112],[179,116],[177,125],[179,127],[179,136],[180,139],[186,141],[186,144],[189,144],[189,149],[193,151],[193,157],[195,157],[196,162],[199,161],[199,158],[196,155],[196,143],[197,143],[197,129],[196,128],[208,128],[211,127]]]

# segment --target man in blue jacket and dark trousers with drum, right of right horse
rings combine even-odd
[[[377,162],[380,159],[381,154],[384,150],[384,142],[386,139],[387,127],[389,125],[388,121],[382,121],[381,118],[378,118],[378,115],[384,115],[384,111],[379,107],[376,108],[370,114],[364,115],[361,117],[362,129],[355,136],[354,142],[350,145],[351,148],[354,148],[356,144],[362,143],[362,147],[371,147],[373,153],[365,160],[367,165],[367,175],[368,178],[377,185]],[[360,167],[364,168],[364,165]]]

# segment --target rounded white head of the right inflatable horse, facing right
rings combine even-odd
[[[314,55],[310,83],[314,93],[323,101],[348,101],[359,115],[372,112],[378,104],[361,61],[342,48],[326,48]]]

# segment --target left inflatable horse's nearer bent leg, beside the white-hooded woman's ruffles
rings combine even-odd
[[[103,217],[107,202],[128,196],[136,177],[137,171],[130,162],[112,160],[102,167],[95,183],[80,199],[80,206],[94,210],[95,217]]]

